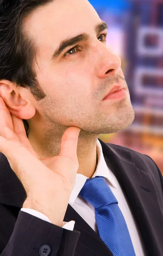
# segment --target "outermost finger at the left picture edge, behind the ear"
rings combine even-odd
[[[11,114],[1,97],[0,97],[0,136],[3,136],[9,140],[19,140],[16,134],[14,134]]]

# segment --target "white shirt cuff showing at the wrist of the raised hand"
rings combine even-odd
[[[46,217],[46,215],[44,215],[43,213],[38,212],[38,211],[36,211],[36,210],[34,210],[34,209],[30,209],[30,208],[21,208],[21,211],[27,212],[27,213],[29,213],[29,214],[31,214],[31,215],[34,215],[34,216],[37,217],[37,218],[42,219],[43,221],[48,221],[48,222],[51,223],[51,221],[49,220],[48,217]],[[73,231],[73,230],[74,230],[74,224],[75,224],[75,221],[69,221],[69,222],[63,221],[62,227],[63,227],[64,229]]]

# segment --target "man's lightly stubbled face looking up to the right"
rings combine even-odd
[[[46,94],[35,106],[49,124],[105,134],[133,122],[121,61],[106,45],[102,23],[87,0],[54,0],[26,19],[25,30],[38,45],[34,69]],[[119,83],[126,96],[104,101]]]

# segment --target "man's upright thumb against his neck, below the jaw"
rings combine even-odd
[[[73,161],[77,160],[77,142],[80,128],[71,126],[62,136],[60,156],[66,156]]]

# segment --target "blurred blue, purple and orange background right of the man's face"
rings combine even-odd
[[[149,155],[163,174],[163,0],[89,2],[109,26],[135,111],[129,128],[99,138]]]

